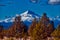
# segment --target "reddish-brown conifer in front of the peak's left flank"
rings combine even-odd
[[[24,23],[21,21],[21,17],[18,16],[15,19],[15,33],[16,37],[23,37],[25,34],[26,26]]]

